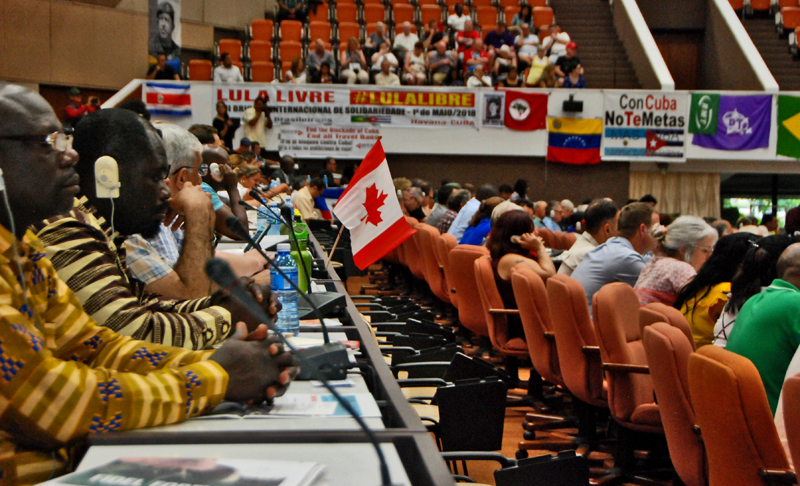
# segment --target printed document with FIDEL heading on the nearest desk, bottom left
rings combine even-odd
[[[253,459],[212,459],[177,457],[122,458],[86,471],[62,476],[45,485],[80,486],[308,486],[325,469],[315,462]]]

